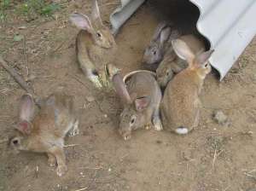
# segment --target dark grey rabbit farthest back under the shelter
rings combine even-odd
[[[172,45],[171,43],[168,43],[168,40],[170,38],[175,39],[179,35],[177,30],[172,29],[172,23],[168,23],[167,21],[160,22],[155,29],[153,38],[144,51],[144,67],[155,71],[166,54],[166,50]]]

